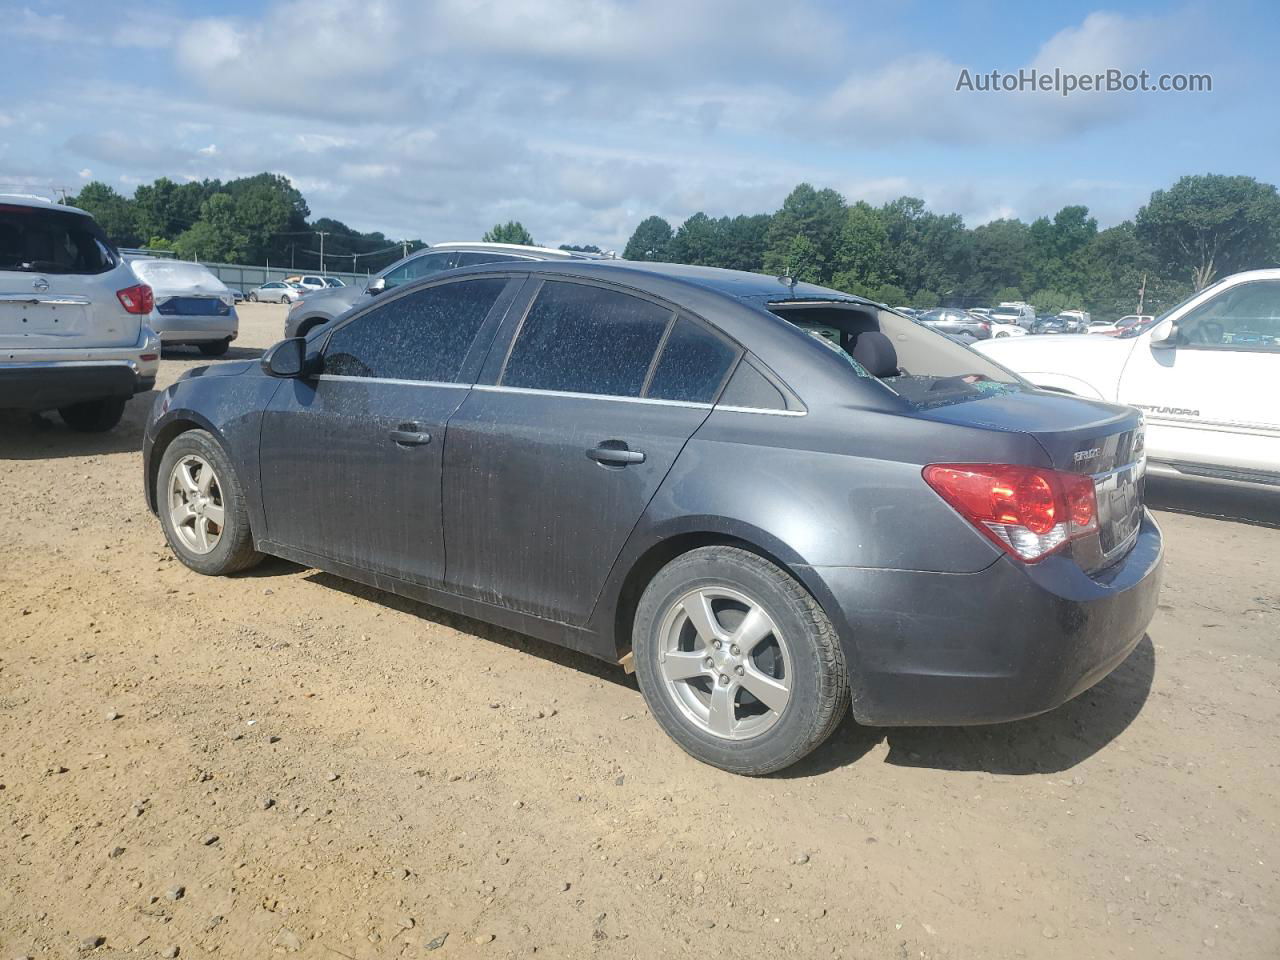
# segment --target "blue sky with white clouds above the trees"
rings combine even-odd
[[[800,180],[969,225],[1280,182],[1280,5],[0,0],[0,189],[289,175],[429,242],[518,219],[620,247]],[[1208,93],[956,92],[961,68],[1208,73]]]

